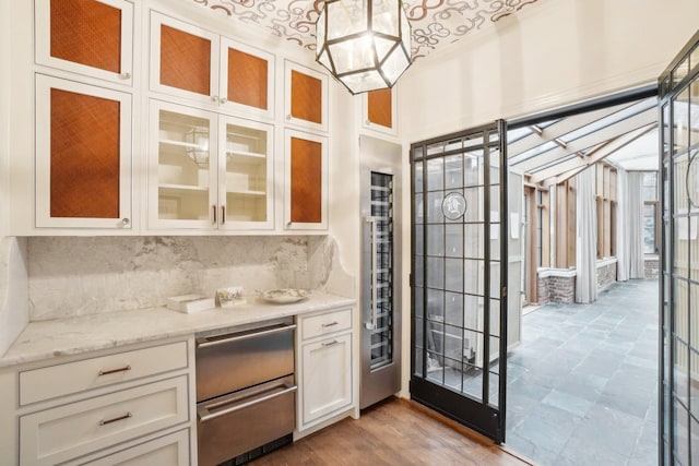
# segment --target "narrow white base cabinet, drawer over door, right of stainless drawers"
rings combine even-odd
[[[298,430],[354,407],[352,309],[299,316]]]

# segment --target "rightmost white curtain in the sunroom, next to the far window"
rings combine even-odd
[[[643,174],[632,171],[628,174],[626,218],[628,252],[627,263],[629,264],[629,278],[643,278],[643,201],[642,187]]]

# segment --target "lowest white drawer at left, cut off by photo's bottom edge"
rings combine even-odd
[[[186,466],[190,463],[189,458],[189,429],[183,429],[107,456],[96,459],[83,457],[75,462],[66,463],[63,466],[116,464],[119,466]]]

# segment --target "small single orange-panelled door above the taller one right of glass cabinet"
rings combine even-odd
[[[328,76],[287,60],[285,82],[286,121],[328,131]]]

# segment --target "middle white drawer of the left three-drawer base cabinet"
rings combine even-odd
[[[20,418],[20,463],[49,465],[185,422],[187,375]]]

